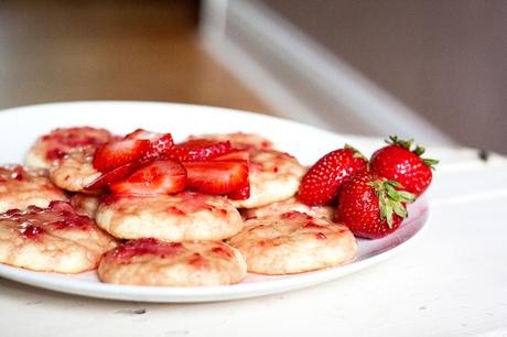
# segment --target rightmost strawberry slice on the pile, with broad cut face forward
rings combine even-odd
[[[227,194],[245,186],[247,161],[207,161],[183,163],[192,189],[207,194]]]

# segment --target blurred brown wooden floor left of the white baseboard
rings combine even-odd
[[[273,113],[212,59],[194,1],[1,1],[0,108],[126,99]]]

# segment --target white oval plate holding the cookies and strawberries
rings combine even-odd
[[[20,163],[32,142],[57,127],[104,127],[126,133],[137,128],[188,134],[245,131],[263,134],[303,164],[311,164],[345,142],[369,155],[381,140],[334,134],[293,121],[244,111],[158,102],[66,102],[31,106],[0,112],[0,162]],[[397,254],[412,242],[429,220],[428,203],[410,205],[410,216],[395,233],[379,240],[358,240],[357,259],[343,267],[284,275],[248,275],[235,285],[202,287],[130,286],[100,283],[94,272],[78,275],[32,272],[0,264],[0,276],[58,292],[100,298],[144,302],[207,302],[261,296],[301,289],[370,267]]]

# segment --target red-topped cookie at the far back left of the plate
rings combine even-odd
[[[50,168],[51,164],[79,146],[97,148],[112,139],[109,131],[90,127],[55,129],[40,137],[30,149],[26,166]]]

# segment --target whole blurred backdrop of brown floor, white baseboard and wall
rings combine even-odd
[[[503,0],[3,0],[0,108],[190,102],[507,154],[505,32]]]

